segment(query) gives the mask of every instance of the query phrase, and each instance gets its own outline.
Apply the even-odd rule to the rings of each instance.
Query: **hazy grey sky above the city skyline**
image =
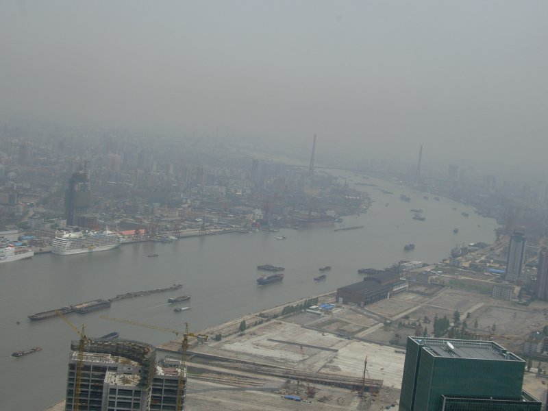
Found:
[[[0,114],[541,166],[547,16],[545,0],[0,0]]]

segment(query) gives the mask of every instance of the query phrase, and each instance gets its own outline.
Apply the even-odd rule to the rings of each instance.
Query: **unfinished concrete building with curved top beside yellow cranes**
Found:
[[[186,368],[133,340],[73,340],[66,411],[184,410]],[[77,388],[79,387],[79,388]]]

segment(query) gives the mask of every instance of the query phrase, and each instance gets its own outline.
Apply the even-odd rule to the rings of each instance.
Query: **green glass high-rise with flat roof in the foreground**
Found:
[[[408,337],[401,411],[540,411],[525,361],[493,341]]]

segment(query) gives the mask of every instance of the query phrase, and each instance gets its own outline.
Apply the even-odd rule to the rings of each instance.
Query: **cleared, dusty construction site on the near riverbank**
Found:
[[[458,311],[469,324],[466,338],[495,340],[523,355],[527,336],[543,328],[548,314],[542,302],[519,306],[438,284],[412,284],[408,292],[364,308],[337,303],[335,293],[319,297],[316,310],[287,307],[186,334],[201,338],[188,338],[183,356],[185,408],[397,410],[407,336],[432,333],[435,318]],[[156,347],[156,358],[180,359],[181,335]],[[544,369],[542,361],[534,365]],[[544,401],[546,375],[536,368],[525,373],[524,388]]]

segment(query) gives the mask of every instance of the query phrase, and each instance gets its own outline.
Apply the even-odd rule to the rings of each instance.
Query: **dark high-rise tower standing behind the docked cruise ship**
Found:
[[[90,209],[91,188],[86,167],[73,173],[64,195],[64,211],[68,225],[77,224],[77,216],[86,214]]]

